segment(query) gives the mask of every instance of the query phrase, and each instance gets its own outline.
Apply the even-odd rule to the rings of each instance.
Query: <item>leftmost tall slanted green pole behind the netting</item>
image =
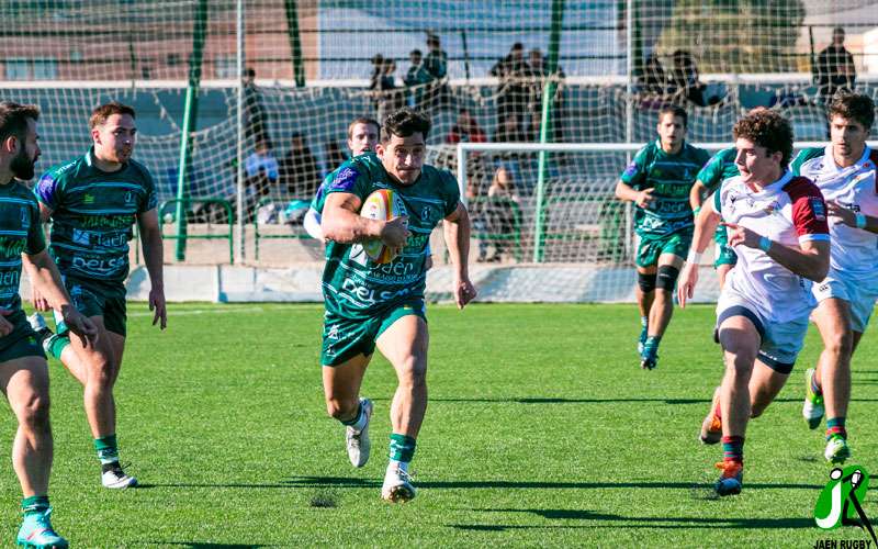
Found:
[[[189,85],[185,88],[185,108],[182,135],[180,136],[180,163],[177,169],[177,260],[185,260],[187,223],[189,191],[187,179],[192,163],[192,137],[199,115],[199,87],[201,86],[201,60],[204,41],[207,35],[207,0],[199,0],[195,22],[192,27],[192,57],[189,59]]]

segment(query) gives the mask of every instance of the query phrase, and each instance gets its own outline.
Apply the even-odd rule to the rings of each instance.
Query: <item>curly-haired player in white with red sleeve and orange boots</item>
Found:
[[[717,305],[725,373],[710,415],[722,429],[719,495],[741,492],[744,434],[786,383],[817,304],[810,281],[830,266],[826,208],[820,189],[789,171],[792,127],[766,109],[734,125],[741,172],[723,181],[696,221],[693,248],[680,276],[680,305],[693,296],[698,262],[720,217],[738,254]]]

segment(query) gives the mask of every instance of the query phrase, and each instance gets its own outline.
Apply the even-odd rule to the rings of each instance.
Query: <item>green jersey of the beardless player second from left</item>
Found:
[[[149,171],[131,160],[113,172],[93,164],[93,149],[50,168],[34,188],[52,209],[49,251],[65,276],[123,282],[137,214],[156,208]]]

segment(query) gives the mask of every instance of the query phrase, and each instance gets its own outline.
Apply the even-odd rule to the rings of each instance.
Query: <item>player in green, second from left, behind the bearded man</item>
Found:
[[[31,324],[43,335],[43,347],[85,388],[101,483],[110,489],[137,484],[119,463],[113,399],[125,349],[125,278],[134,223],[151,282],[153,324],[160,323],[165,329],[167,323],[156,189],[149,171],[131,158],[137,132],[134,116],[134,109],[116,102],[94,109],[89,121],[93,146],[83,156],[49,169],[34,189],[43,220],[53,221],[49,249],[67,291],[77,309],[98,326],[100,339],[93,347],[83,346],[68,337],[67,326],[57,316],[57,335],[52,335],[38,314]],[[38,311],[46,309],[37,292],[34,305]]]

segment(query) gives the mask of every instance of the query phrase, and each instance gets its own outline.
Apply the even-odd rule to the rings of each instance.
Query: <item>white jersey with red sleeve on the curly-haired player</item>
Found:
[[[729,178],[716,193],[713,206],[727,223],[744,226],[784,246],[830,240],[820,189],[790,171],[761,191],[747,187],[741,176]],[[745,298],[768,322],[800,320],[817,305],[809,280],[758,248],[739,244],[734,250],[738,265],[729,273],[723,293]]]

